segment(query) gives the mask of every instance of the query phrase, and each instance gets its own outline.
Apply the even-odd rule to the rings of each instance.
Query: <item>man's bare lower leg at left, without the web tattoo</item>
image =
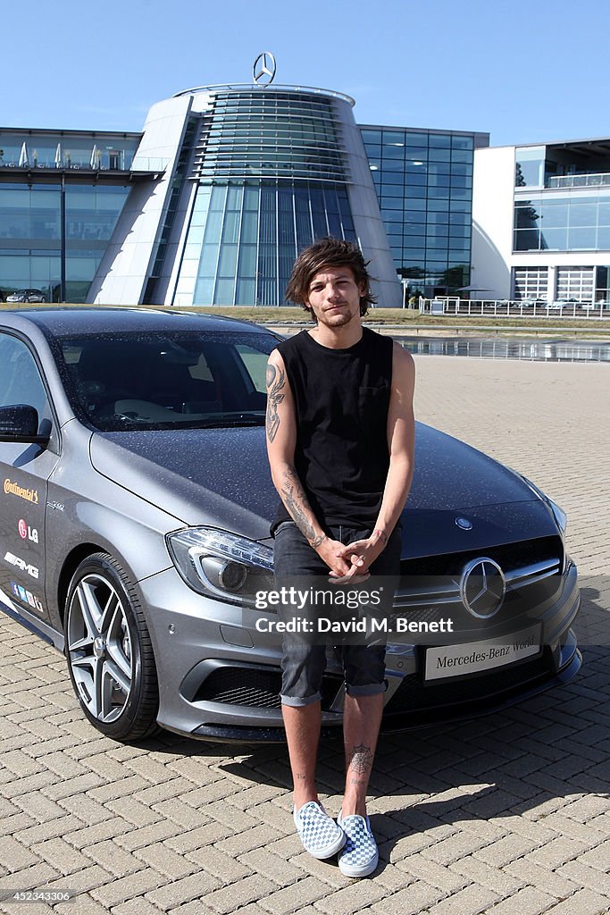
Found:
[[[316,759],[320,739],[321,704],[283,705],[284,727],[288,741],[290,768],[294,782],[294,809],[317,801]]]

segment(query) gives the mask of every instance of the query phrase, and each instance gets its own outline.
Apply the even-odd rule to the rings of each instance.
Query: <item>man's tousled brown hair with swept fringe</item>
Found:
[[[305,311],[312,314],[307,300],[309,284],[314,276],[325,267],[349,267],[357,285],[364,287],[364,295],[360,296],[360,316],[364,316],[369,305],[374,305],[377,301],[377,297],[370,291],[368,265],[369,261],[365,261],[359,247],[353,242],[344,242],[338,238],[320,239],[305,248],[294,261],[293,272],[286,286],[286,300],[303,306]]]

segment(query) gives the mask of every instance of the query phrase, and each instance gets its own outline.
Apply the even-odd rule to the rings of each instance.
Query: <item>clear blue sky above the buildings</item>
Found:
[[[138,131],[174,92],[251,81],[267,49],[276,82],[347,92],[359,124],[610,135],[604,0],[33,0],[2,18],[7,127]]]

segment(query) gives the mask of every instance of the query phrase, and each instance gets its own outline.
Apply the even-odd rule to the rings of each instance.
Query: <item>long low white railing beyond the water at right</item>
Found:
[[[484,318],[610,318],[607,302],[541,302],[524,299],[482,299],[471,301],[453,296],[437,296],[420,300],[420,313],[429,315],[459,315]]]

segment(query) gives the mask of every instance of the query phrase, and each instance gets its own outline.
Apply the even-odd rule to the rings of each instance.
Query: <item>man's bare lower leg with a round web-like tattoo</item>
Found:
[[[380,733],[383,694],[346,695],[343,741],[346,753],[346,789],[342,816],[367,815],[367,789]]]

